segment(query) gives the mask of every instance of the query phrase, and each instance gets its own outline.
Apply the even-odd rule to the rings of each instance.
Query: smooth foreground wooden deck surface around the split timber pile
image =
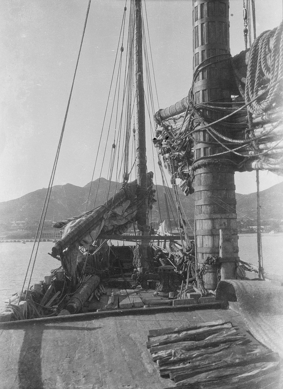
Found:
[[[149,308],[142,315],[138,311],[133,309],[128,315],[116,312],[115,317],[87,314],[62,321],[39,319],[2,326],[0,387],[161,389],[171,381],[161,378],[152,362],[146,347],[149,329],[219,319],[245,329],[240,315],[231,310],[187,308],[187,312],[154,313]]]

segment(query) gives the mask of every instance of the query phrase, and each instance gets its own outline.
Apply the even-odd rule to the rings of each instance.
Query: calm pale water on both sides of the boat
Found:
[[[50,274],[51,269],[60,265],[57,259],[47,254],[51,252],[53,245],[52,242],[40,243],[31,284],[42,280],[45,275]],[[0,311],[5,307],[4,301],[21,290],[32,247],[32,242],[0,243]],[[262,252],[265,271],[283,277],[283,234],[263,234]],[[239,257],[243,261],[257,265],[255,234],[239,235]]]

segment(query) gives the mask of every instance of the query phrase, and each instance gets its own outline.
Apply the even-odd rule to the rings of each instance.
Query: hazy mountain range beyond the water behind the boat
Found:
[[[46,220],[59,221],[70,216],[81,214],[86,209],[86,200],[89,193],[91,183],[89,182],[84,187],[75,186],[72,184],[57,185],[52,188],[51,198],[47,211]],[[91,195],[89,197],[89,205],[87,209],[93,207],[94,198],[98,180],[92,184]],[[107,180],[100,180],[100,189],[97,193],[96,205],[103,203],[103,196],[107,187]],[[118,187],[121,187],[119,185]],[[157,185],[158,203],[154,204],[152,210],[152,220],[160,222],[159,208],[161,219],[167,219],[166,202],[164,198],[163,187]],[[111,182],[110,196],[113,195],[115,183]],[[172,198],[174,199],[174,191],[169,188]],[[185,210],[186,216],[193,225],[194,220],[194,195],[184,196],[179,190],[180,200]],[[46,195],[46,188],[38,189],[37,191],[28,193],[15,200],[0,203],[0,222],[3,224],[12,221],[37,221],[40,217],[42,205]],[[260,192],[261,203],[261,218],[264,219],[283,219],[283,182],[276,184],[273,187]],[[157,195],[155,195],[157,200]],[[257,195],[250,193],[249,195],[236,194],[238,218],[245,217],[256,219],[257,215]],[[159,207],[158,207],[159,204]],[[170,210],[169,217],[172,218]]]

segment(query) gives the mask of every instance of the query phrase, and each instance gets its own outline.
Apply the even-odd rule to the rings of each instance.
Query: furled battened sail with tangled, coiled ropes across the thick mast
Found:
[[[171,176],[181,179],[179,186],[186,195],[193,192],[194,170],[211,163],[229,163],[239,171],[268,169],[283,175],[282,39],[282,23],[255,39],[249,53],[246,78],[239,79],[227,54],[217,59],[206,58],[197,67],[194,80],[214,61],[231,61],[231,71],[239,88],[239,95],[232,102],[211,101],[194,105],[193,80],[185,113],[164,119],[159,115],[161,110],[155,114],[154,146]],[[219,112],[222,117],[210,123],[203,110]],[[224,112],[227,112],[225,116]],[[248,112],[251,114],[251,129]],[[210,142],[194,139],[194,132],[200,128],[210,135]],[[217,146],[220,151],[194,159],[194,147],[199,143]]]

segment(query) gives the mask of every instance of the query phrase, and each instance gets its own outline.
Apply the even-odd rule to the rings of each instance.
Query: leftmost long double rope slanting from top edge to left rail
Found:
[[[86,18],[85,18],[84,28],[83,28],[83,32],[82,32],[82,38],[81,38],[81,41],[80,41],[80,48],[79,48],[79,53],[78,53],[78,57],[77,57],[77,63],[76,63],[76,66],[75,66],[75,72],[74,72],[74,75],[73,75],[72,86],[71,86],[70,95],[69,95],[69,98],[68,98],[67,108],[66,108],[65,117],[64,117],[64,121],[63,121],[63,126],[62,126],[62,130],[61,130],[61,134],[60,134],[60,138],[59,138],[59,143],[58,143],[58,147],[57,147],[57,151],[56,151],[56,156],[55,156],[54,164],[53,164],[53,167],[52,167],[51,177],[50,177],[50,180],[49,180],[49,186],[47,188],[47,193],[46,193],[46,196],[45,196],[44,205],[43,205],[42,213],[41,213],[41,216],[40,216],[40,221],[38,223],[38,228],[37,228],[37,233],[36,233],[36,237],[35,237],[35,242],[33,244],[30,260],[29,260],[29,263],[28,263],[28,268],[27,268],[27,271],[26,271],[23,287],[22,287],[22,290],[21,290],[21,294],[22,294],[23,293],[23,289],[24,289],[24,284],[26,282],[26,278],[27,278],[27,275],[28,275],[28,270],[29,270],[29,267],[30,267],[30,264],[31,264],[31,258],[32,258],[32,255],[33,255],[33,251],[35,249],[35,243],[36,243],[36,240],[38,238],[38,245],[37,245],[37,249],[35,251],[35,257],[34,257],[34,260],[33,260],[33,266],[31,268],[30,280],[29,280],[29,283],[28,283],[28,288],[27,288],[27,291],[26,291],[25,300],[26,300],[26,296],[27,296],[27,293],[28,293],[28,289],[30,287],[31,277],[32,277],[32,273],[33,273],[33,268],[34,268],[34,265],[35,265],[35,260],[37,258],[38,247],[39,247],[39,244],[40,244],[40,238],[41,238],[41,235],[42,235],[42,230],[43,230],[43,225],[44,225],[44,221],[45,221],[45,217],[46,217],[47,207],[48,207],[49,199],[50,199],[50,195],[51,195],[51,189],[52,189],[52,185],[53,185],[53,181],[54,181],[54,175],[55,175],[55,172],[56,172],[57,162],[58,162],[58,158],[59,158],[59,152],[60,152],[60,149],[61,149],[61,143],[62,143],[63,134],[64,134],[64,130],[65,130],[65,125],[66,125],[66,120],[67,120],[68,111],[69,111],[69,107],[70,107],[73,86],[74,86],[74,83],[75,83],[75,76],[76,76],[77,68],[78,68],[78,64],[79,64],[80,52],[81,52],[81,49],[82,49],[82,43],[83,43],[83,40],[84,40],[85,31],[86,31],[86,24],[87,24],[87,18],[88,18],[88,14],[89,14],[90,5],[91,5],[91,0],[89,0],[88,6],[87,6]],[[39,231],[41,222],[42,222],[42,225],[41,225],[41,229],[40,229],[39,236],[38,236],[38,231]],[[19,304],[19,302],[18,302],[18,304]]]

